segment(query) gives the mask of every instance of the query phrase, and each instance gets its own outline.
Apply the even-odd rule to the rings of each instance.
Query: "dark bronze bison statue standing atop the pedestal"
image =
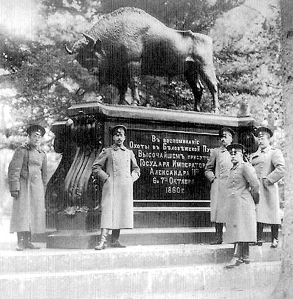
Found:
[[[184,74],[194,95],[194,110],[199,111],[206,83],[219,110],[212,40],[191,30],[174,30],[145,11],[124,7],[99,17],[84,37],[75,42],[69,54],[102,84],[119,90],[119,103],[124,103],[127,88],[133,103],[139,103],[138,78],[141,75],[166,76]]]

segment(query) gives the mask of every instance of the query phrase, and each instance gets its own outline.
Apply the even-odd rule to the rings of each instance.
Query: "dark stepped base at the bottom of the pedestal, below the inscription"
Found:
[[[100,240],[100,211],[57,213],[47,248],[93,248]],[[214,235],[208,208],[134,207],[134,229],[121,230],[126,245],[209,243]],[[197,226],[197,228],[195,228]]]

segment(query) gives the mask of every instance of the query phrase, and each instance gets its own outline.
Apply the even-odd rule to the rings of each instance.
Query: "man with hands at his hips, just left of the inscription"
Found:
[[[93,175],[103,183],[101,241],[95,250],[105,249],[109,230],[110,247],[125,247],[118,239],[121,229],[133,228],[133,183],[140,177],[133,152],[126,148],[126,127],[112,129],[114,144],[102,150],[93,163]]]

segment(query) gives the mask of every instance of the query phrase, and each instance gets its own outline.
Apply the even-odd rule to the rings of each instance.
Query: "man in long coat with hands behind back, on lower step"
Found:
[[[226,184],[228,208],[224,241],[238,244],[226,266],[233,268],[242,262],[250,262],[249,242],[256,240],[255,203],[259,200],[259,182],[251,164],[243,161],[243,145],[235,143],[227,149],[233,166]]]

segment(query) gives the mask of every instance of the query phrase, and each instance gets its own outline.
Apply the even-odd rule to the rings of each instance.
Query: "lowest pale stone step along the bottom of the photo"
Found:
[[[186,267],[136,268],[59,273],[0,275],[0,298],[136,298],[163,295],[268,287],[276,283],[280,261],[254,262],[225,269],[224,264]],[[136,294],[138,296],[136,296]]]

